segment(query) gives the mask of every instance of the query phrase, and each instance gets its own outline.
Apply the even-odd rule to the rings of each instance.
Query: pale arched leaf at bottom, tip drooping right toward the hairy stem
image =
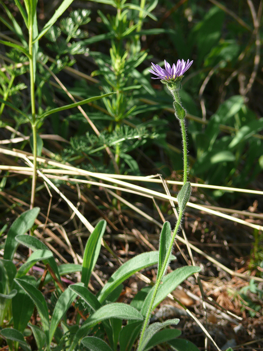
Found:
[[[122,303],[113,303],[102,306],[99,310],[94,312],[89,316],[88,319],[82,324],[80,329],[77,331],[72,344],[68,351],[74,350],[80,339],[87,333],[87,331],[95,326],[96,324],[102,322],[109,318],[119,318],[128,320],[143,320],[143,316],[134,307]]]

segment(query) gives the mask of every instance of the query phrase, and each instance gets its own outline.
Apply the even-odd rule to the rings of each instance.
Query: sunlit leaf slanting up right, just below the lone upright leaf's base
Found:
[[[75,285],[82,285],[82,283],[76,283]],[[55,305],[51,322],[50,322],[49,344],[52,342],[54,333],[56,331],[56,327],[58,326],[60,319],[67,312],[67,310],[69,309],[69,306],[72,304],[76,296],[77,296],[77,293],[69,288],[67,288],[60,295]]]

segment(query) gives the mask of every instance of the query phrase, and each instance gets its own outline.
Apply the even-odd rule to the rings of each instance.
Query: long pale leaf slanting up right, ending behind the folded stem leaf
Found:
[[[116,272],[113,273],[108,282],[103,286],[98,295],[98,300],[103,302],[108,294],[124,280],[132,276],[137,271],[156,264],[158,262],[158,256],[158,251],[144,252],[125,262],[116,270]]]

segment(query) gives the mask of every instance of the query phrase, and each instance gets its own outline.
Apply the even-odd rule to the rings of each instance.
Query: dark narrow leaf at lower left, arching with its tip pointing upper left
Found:
[[[49,317],[48,317],[47,303],[44,296],[32,284],[29,284],[24,280],[15,278],[14,281],[19,286],[21,286],[23,290],[25,290],[25,292],[28,294],[28,296],[33,300],[34,304],[36,305],[39,316],[41,318],[43,331],[45,332],[46,338],[49,341]]]

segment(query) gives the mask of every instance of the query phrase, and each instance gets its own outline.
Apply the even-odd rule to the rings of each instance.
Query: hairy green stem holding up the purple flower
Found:
[[[185,127],[185,124],[184,124],[184,117],[186,115],[186,111],[184,110],[184,108],[181,105],[180,97],[179,97],[179,94],[178,94],[178,91],[179,91],[179,89],[181,87],[180,81],[178,81],[177,88],[175,88],[175,86],[171,87],[169,85],[167,85],[167,87],[168,87],[168,89],[170,90],[170,92],[172,93],[172,95],[174,97],[174,101],[175,101],[175,104],[176,104],[176,105],[174,104],[175,117],[179,120],[180,126],[181,126],[181,133],[182,133],[182,140],[183,140],[183,184],[186,184],[186,182],[187,182],[187,168],[188,168],[186,127]],[[146,314],[146,317],[145,317],[145,320],[144,320],[144,324],[143,324],[143,327],[142,327],[141,336],[140,336],[139,345],[138,345],[138,350],[140,349],[140,345],[142,343],[142,340],[143,340],[143,337],[144,337],[144,333],[145,333],[146,328],[147,328],[147,326],[149,324],[149,320],[150,320],[150,317],[151,317],[151,312],[153,310],[154,300],[155,300],[157,291],[159,289],[159,286],[161,284],[162,278],[163,278],[163,276],[165,274],[166,265],[168,263],[171,250],[173,249],[174,240],[175,240],[177,231],[179,229],[179,226],[181,224],[183,213],[184,213],[184,208],[181,210],[181,208],[179,207],[178,219],[177,219],[176,226],[175,226],[175,229],[174,229],[174,232],[173,232],[173,236],[171,238],[171,242],[170,242],[169,249],[168,249],[169,254],[166,255],[166,258],[165,258],[165,260],[163,262],[163,266],[162,266],[159,278],[157,279],[157,281],[155,283],[153,296],[151,298],[151,302],[150,302],[150,305],[148,307],[147,314]]]

